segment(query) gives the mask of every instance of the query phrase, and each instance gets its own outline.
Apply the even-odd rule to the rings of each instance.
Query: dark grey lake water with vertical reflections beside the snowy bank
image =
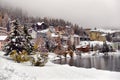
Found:
[[[90,56],[90,57],[74,57],[54,60],[56,64],[68,64],[70,66],[96,68],[102,70],[119,71],[120,72],[120,56],[109,55]]]

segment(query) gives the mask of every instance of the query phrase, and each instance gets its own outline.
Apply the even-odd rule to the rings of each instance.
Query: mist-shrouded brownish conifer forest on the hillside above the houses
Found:
[[[74,29],[74,32],[76,34],[79,34],[81,31],[81,27],[79,27],[77,24],[72,24],[69,21],[65,21],[64,19],[55,19],[55,18],[48,18],[48,17],[33,17],[28,16],[27,12],[23,11],[21,8],[12,8],[12,7],[3,7],[0,5],[0,13],[2,14],[2,17],[4,18],[4,15],[7,14],[11,20],[19,19],[21,24],[26,23],[36,23],[36,22],[45,22],[48,26],[71,26]]]

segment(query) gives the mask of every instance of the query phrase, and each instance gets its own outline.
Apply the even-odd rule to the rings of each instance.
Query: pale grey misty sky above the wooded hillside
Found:
[[[61,18],[82,27],[120,27],[120,0],[0,0],[0,3],[20,7],[32,16]]]

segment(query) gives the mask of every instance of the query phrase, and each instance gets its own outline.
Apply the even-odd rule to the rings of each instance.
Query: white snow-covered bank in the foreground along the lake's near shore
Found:
[[[50,56],[51,57],[51,56]],[[50,61],[45,67],[15,63],[0,52],[0,80],[119,80],[120,72],[76,68]]]

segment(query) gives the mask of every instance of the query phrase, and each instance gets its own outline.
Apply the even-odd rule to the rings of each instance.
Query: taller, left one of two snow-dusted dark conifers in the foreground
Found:
[[[19,23],[16,20],[13,23],[13,30],[10,32],[8,36],[8,43],[5,45],[5,55],[9,55],[12,50],[16,50],[17,53],[21,51],[24,47],[21,45],[22,37],[21,37],[22,31],[19,29]]]

